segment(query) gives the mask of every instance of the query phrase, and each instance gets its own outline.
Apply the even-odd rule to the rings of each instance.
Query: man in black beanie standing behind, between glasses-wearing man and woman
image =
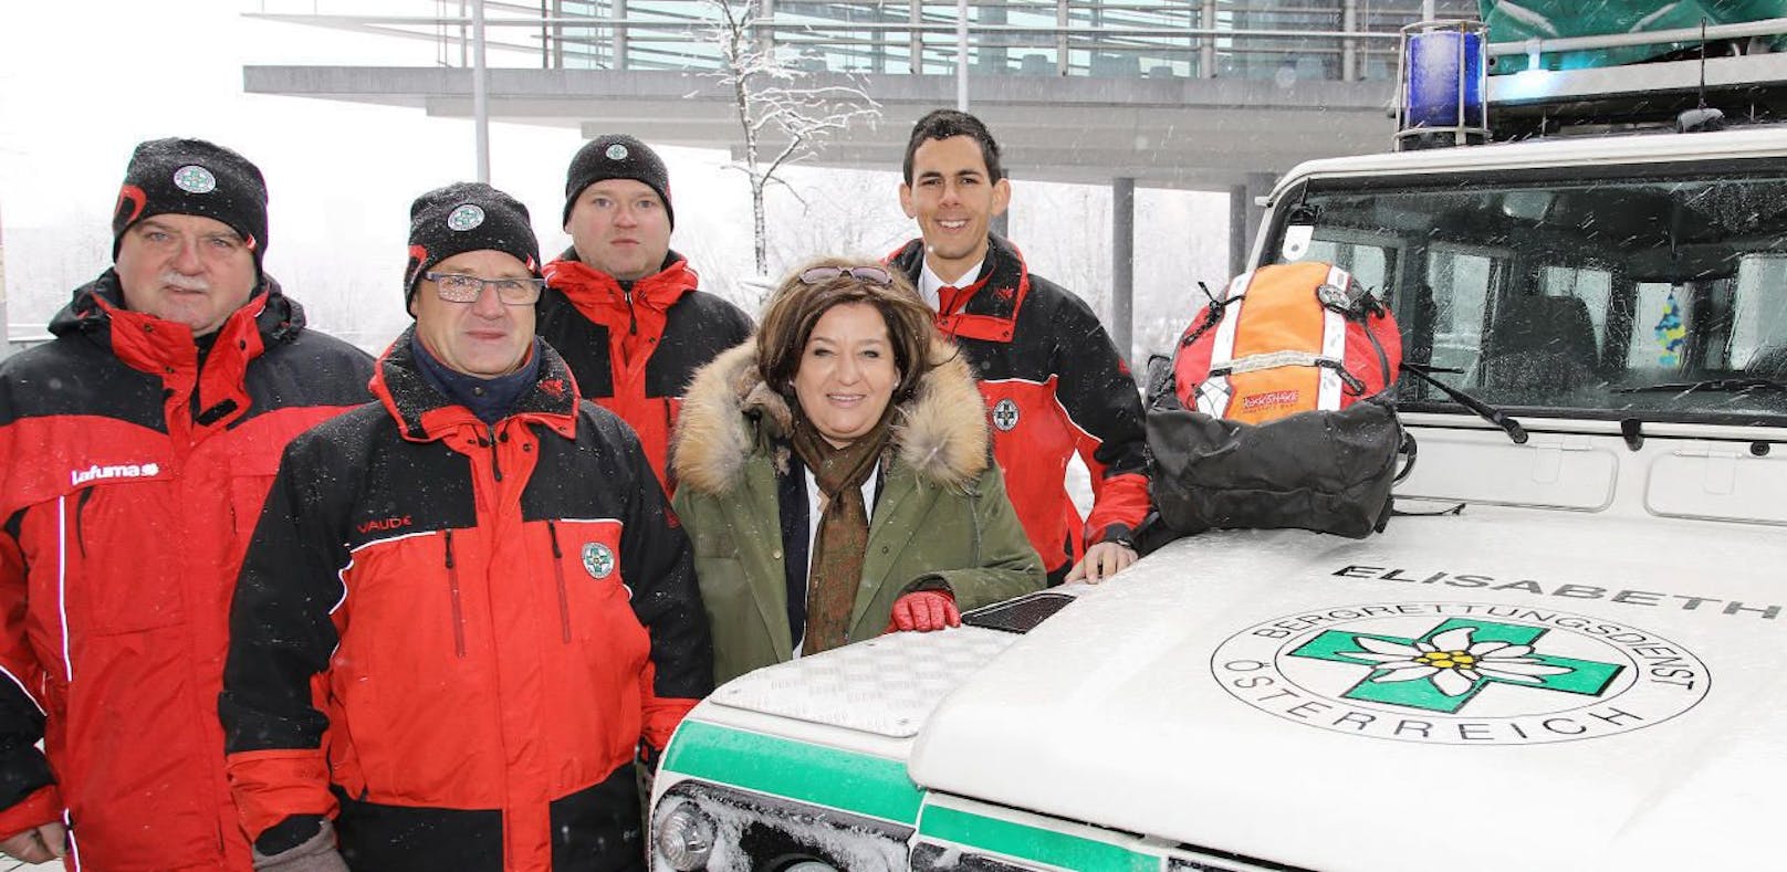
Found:
[[[645,143],[608,134],[565,173],[572,247],[547,264],[540,336],[565,354],[586,398],[640,434],[668,488],[665,457],[697,368],[751,336],[751,318],[699,289],[670,250],[670,172]]]

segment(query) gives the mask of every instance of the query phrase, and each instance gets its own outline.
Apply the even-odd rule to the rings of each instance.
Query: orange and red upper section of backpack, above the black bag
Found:
[[[1263,423],[1338,411],[1396,382],[1403,336],[1351,273],[1321,261],[1235,277],[1179,338],[1179,402],[1213,418]]]

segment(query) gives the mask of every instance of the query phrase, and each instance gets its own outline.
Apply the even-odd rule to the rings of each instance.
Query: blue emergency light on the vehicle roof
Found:
[[[1489,139],[1485,46],[1481,21],[1419,21],[1403,29],[1397,150]]]

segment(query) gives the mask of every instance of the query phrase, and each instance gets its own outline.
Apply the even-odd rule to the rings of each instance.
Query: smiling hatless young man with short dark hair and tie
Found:
[[[1017,247],[992,232],[1011,182],[986,125],[952,109],[920,118],[899,200],[920,238],[888,263],[974,365],[994,456],[1049,581],[1097,583],[1122,570],[1137,558],[1131,538],[1149,506],[1142,400],[1092,309],[1031,273]],[[1074,452],[1092,472],[1083,527],[1065,488]]]

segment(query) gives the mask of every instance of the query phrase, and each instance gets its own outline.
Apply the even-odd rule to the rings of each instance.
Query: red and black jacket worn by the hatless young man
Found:
[[[924,239],[888,256],[913,286]],[[1060,583],[1085,545],[1129,540],[1147,515],[1142,398],[1097,314],[1061,286],[1031,275],[1017,247],[988,236],[974,284],[944,302],[936,327],[956,340],[979,377],[994,457],[1049,581]],[[1081,525],[1067,495],[1067,461],[1092,474]]]

